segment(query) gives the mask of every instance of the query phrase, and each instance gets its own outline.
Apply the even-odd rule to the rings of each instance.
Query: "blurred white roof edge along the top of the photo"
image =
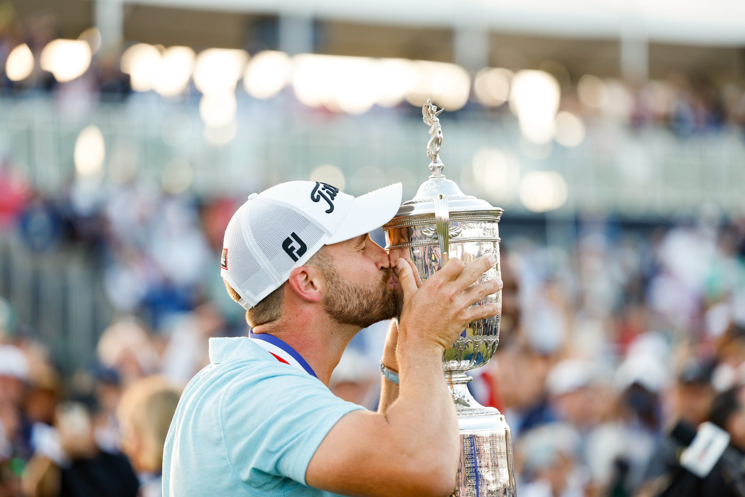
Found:
[[[737,0],[124,0],[130,4],[289,14],[434,28],[485,28],[566,37],[645,37],[706,45],[745,43]]]

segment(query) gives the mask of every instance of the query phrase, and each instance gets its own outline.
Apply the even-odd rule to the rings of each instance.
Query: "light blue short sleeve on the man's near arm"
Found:
[[[305,470],[323,438],[357,409],[364,408],[292,367],[264,364],[259,372],[242,373],[224,391],[220,414],[235,474],[247,484],[274,475],[305,485]]]

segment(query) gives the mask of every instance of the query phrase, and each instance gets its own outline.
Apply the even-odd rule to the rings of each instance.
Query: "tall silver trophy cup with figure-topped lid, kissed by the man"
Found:
[[[457,257],[468,264],[492,254],[497,263],[481,276],[478,281],[481,283],[500,275],[498,223],[502,209],[463,194],[443,175],[444,165],[440,160],[443,130],[437,117],[441,112],[429,100],[422,107],[424,122],[430,126],[427,155],[431,159],[431,176],[383,227],[386,250],[393,260],[403,257],[413,262],[422,280],[442,268],[448,257]],[[476,305],[492,302],[501,302],[501,292]],[[466,386],[471,381],[466,371],[486,364],[498,342],[499,316],[496,316],[470,323],[443,354],[462,443],[453,496],[516,495],[510,427],[497,409],[476,402]]]

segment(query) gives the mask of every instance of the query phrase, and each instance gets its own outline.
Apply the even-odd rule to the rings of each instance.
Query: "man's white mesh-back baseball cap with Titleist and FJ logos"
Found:
[[[256,306],[323,245],[381,227],[401,205],[401,183],[352,197],[327,183],[290,181],[251,194],[225,230],[220,273],[238,303]]]

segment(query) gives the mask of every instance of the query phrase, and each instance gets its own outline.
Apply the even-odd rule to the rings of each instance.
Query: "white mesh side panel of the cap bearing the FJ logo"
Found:
[[[246,238],[266,258],[279,287],[293,268],[310,259],[329,233],[288,203],[257,197],[249,206]]]

